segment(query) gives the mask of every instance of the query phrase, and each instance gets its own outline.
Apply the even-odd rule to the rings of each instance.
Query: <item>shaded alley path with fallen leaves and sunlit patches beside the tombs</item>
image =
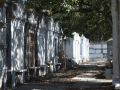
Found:
[[[89,61],[66,71],[34,78],[13,90],[114,90],[112,80],[105,79],[104,70],[105,61]]]

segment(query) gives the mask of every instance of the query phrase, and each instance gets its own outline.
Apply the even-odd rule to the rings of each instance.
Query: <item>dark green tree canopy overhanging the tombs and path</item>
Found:
[[[47,16],[60,21],[64,34],[84,34],[91,41],[107,40],[112,37],[110,0],[27,0],[26,8],[48,10]]]

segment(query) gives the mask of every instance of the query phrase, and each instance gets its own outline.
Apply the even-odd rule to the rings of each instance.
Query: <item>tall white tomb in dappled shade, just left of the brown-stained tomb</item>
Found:
[[[24,82],[24,28],[26,14],[22,1],[8,3],[7,15],[7,66],[8,85],[15,87]],[[12,79],[10,79],[12,77]]]

